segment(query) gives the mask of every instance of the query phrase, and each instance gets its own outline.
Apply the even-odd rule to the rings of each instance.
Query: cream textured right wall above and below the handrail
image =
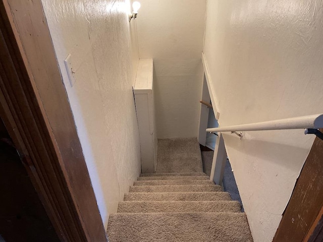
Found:
[[[204,52],[220,126],[323,112],[322,23],[322,1],[207,2]],[[272,241],[314,137],[224,139],[254,241]]]

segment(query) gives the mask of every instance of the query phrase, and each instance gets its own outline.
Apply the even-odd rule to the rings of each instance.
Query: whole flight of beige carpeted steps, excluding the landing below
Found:
[[[141,174],[107,225],[110,242],[252,241],[239,202],[205,173]]]

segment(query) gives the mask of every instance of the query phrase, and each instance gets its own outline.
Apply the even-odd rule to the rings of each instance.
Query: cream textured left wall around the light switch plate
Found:
[[[43,0],[84,157],[106,228],[140,172],[132,85],[138,64],[130,3]],[[71,87],[64,59],[72,54]]]

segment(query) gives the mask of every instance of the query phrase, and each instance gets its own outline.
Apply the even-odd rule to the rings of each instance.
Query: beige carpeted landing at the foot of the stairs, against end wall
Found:
[[[158,139],[156,173],[203,172],[196,138]]]

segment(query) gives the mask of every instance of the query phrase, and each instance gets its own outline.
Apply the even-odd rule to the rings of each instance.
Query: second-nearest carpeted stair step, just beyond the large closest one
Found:
[[[241,212],[238,201],[127,201],[118,213]]]

